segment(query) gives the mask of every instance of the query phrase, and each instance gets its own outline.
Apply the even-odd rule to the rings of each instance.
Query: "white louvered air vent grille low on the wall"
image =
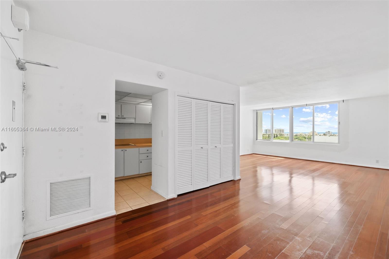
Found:
[[[47,219],[92,209],[92,175],[47,182]]]

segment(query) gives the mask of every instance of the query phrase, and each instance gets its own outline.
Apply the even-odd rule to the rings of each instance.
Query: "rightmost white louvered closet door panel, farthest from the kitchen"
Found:
[[[222,104],[222,182],[234,176],[234,106]]]

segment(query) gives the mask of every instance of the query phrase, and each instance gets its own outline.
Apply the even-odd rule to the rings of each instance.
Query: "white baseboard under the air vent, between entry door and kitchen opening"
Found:
[[[60,226],[55,226],[53,228],[48,228],[48,229],[40,230],[37,232],[33,232],[33,233],[30,233],[30,234],[23,236],[23,240],[24,240],[24,242],[30,242],[30,241],[35,240],[35,239],[43,238],[45,236],[54,235],[54,234],[60,233],[62,231],[67,231],[69,229],[84,226],[86,224],[91,224],[91,223],[96,222],[96,221],[102,221],[104,219],[109,219],[110,217],[114,217],[114,216],[116,216],[116,211],[113,210],[113,211],[110,211],[107,213],[103,213],[103,214],[95,215],[93,217],[82,219],[80,221],[70,222],[67,224],[60,225]]]

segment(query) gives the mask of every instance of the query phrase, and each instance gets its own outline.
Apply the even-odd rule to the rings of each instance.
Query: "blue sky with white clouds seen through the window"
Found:
[[[298,132],[312,131],[312,106],[293,108],[293,130]],[[263,111],[262,127],[270,129],[272,110]],[[289,132],[289,108],[273,110],[275,129],[284,129]],[[315,106],[315,131],[316,132],[338,132],[338,103]]]

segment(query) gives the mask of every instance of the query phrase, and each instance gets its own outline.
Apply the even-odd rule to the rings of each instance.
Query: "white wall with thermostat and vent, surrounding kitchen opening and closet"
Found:
[[[164,93],[168,99],[167,125],[163,126],[167,135],[160,147],[165,159],[155,165],[158,161],[153,158],[153,173],[158,166],[161,177],[168,179],[165,189],[160,190],[163,194],[175,196],[171,183],[175,175],[176,93],[237,104],[235,158],[239,176],[239,87],[33,30],[25,33],[24,48],[25,58],[60,67],[27,65],[26,126],[79,127],[78,132],[29,132],[26,136],[25,239],[115,214],[115,79],[168,89]],[[158,71],[165,72],[165,79],[158,79]],[[98,123],[98,112],[108,112],[109,122]],[[93,210],[46,221],[46,181],[85,174],[94,178]]]

